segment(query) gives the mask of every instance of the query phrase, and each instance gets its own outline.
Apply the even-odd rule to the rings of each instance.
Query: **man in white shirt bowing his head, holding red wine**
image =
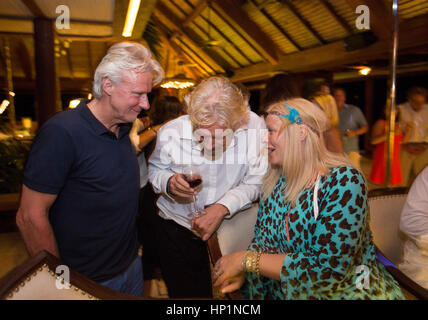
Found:
[[[258,199],[267,159],[257,134],[265,125],[223,77],[202,81],[185,100],[188,115],[158,132],[149,180],[160,194],[156,235],[169,297],[207,298],[212,285],[205,241],[225,217]],[[190,165],[199,179],[189,180]],[[191,187],[194,181],[200,185]],[[198,208],[201,215],[195,215]]]

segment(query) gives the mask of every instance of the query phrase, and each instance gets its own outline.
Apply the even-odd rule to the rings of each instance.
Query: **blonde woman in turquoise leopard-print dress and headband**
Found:
[[[296,98],[267,108],[269,169],[248,251],[213,270],[223,293],[249,299],[401,299],[376,260],[366,184],[349,160],[326,150],[324,112]]]

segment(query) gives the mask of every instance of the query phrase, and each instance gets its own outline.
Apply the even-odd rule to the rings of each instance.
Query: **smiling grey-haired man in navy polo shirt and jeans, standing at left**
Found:
[[[95,71],[95,99],[40,128],[16,218],[30,255],[47,250],[94,281],[142,295],[139,169],[128,134],[163,75],[146,47],[117,43]]]

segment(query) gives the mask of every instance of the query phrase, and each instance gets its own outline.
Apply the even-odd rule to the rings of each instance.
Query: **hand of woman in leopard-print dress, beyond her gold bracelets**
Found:
[[[221,292],[229,293],[238,290],[245,281],[245,271],[242,269],[242,259],[246,251],[238,251],[223,256],[214,266],[212,280],[214,287],[220,287]]]

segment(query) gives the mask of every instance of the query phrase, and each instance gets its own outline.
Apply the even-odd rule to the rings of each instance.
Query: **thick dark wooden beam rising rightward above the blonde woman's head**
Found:
[[[398,41],[399,53],[409,48],[428,45],[426,30],[428,29],[428,15],[418,16],[405,20],[400,24]],[[323,46],[306,49],[300,52],[282,55],[278,65],[259,63],[235,70],[231,78],[233,82],[247,82],[253,79],[269,78],[276,72],[306,72],[343,66],[352,63],[361,63],[364,60],[389,59],[391,41],[378,41],[369,47],[354,51],[346,51],[344,41],[336,41]]]

